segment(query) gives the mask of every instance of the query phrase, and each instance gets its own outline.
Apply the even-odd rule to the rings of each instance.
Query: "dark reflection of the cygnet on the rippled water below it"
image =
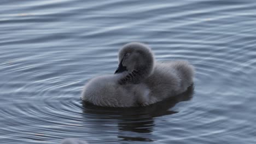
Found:
[[[180,101],[190,100],[193,96],[193,92],[194,86],[192,85],[188,87],[187,91],[176,97],[143,107],[100,107],[83,102],[83,116],[86,119],[92,119],[93,121],[86,122],[90,122],[92,127],[94,125],[95,127],[93,128],[100,128],[101,130],[97,131],[102,131],[102,133],[104,133],[105,130],[107,131],[106,125],[117,124],[118,138],[120,138],[120,140],[153,141],[150,139],[150,135],[148,135],[152,133],[155,125],[153,118],[177,113],[177,111],[170,110],[171,107]],[[100,125],[103,127],[99,127]],[[129,132],[136,133],[136,135],[132,134],[133,137],[131,137]]]

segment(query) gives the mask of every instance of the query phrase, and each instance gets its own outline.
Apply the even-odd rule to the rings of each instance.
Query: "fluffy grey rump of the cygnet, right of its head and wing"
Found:
[[[156,63],[154,73],[144,83],[152,101],[161,101],[185,92],[193,83],[193,75],[194,68],[186,61],[162,62]]]

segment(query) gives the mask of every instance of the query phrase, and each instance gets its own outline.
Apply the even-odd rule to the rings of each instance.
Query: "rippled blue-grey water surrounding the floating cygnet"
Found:
[[[188,60],[194,90],[147,107],[80,100],[121,46]],[[256,1],[14,1],[0,5],[0,143],[256,143]]]

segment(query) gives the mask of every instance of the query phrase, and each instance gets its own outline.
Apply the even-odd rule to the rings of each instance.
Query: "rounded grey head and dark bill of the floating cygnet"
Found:
[[[152,74],[154,68],[154,55],[150,48],[142,43],[128,43],[119,50],[119,67],[115,71],[127,71],[130,76],[144,79]]]

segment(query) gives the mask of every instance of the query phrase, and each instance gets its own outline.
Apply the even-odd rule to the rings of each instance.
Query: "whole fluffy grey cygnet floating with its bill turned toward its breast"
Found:
[[[114,75],[91,79],[82,100],[98,106],[144,106],[183,93],[193,83],[194,68],[186,61],[155,62],[153,52],[142,43],[119,50]]]

